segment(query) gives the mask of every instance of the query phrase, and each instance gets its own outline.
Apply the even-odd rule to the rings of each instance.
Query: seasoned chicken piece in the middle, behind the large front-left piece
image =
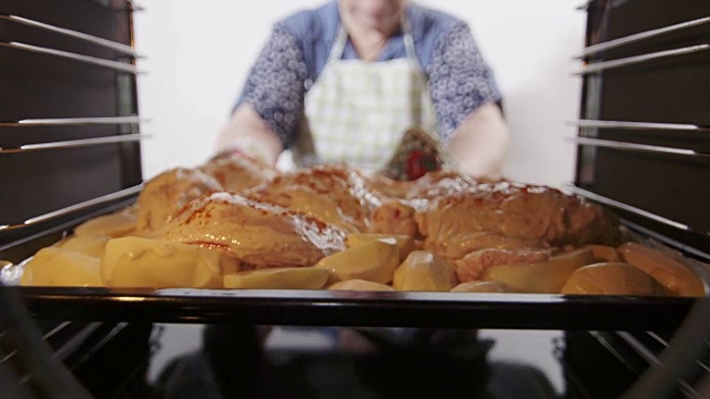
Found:
[[[246,195],[305,213],[347,232],[365,232],[369,214],[386,198],[356,170],[323,165],[284,173]]]

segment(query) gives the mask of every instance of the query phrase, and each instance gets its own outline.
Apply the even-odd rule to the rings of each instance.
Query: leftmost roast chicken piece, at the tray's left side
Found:
[[[138,197],[138,234],[159,229],[187,202],[203,194],[222,191],[213,177],[193,168],[176,167],[145,183]]]

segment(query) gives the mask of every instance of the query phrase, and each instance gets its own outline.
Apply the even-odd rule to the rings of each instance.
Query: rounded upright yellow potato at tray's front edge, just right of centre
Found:
[[[448,291],[457,284],[456,270],[443,257],[414,250],[395,270],[393,286],[398,290]]]

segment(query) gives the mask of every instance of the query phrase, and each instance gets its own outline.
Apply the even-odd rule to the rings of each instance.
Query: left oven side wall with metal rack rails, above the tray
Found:
[[[0,176],[13,187],[0,211],[0,246],[140,191],[140,142],[150,137],[141,125],[150,120],[138,115],[139,9],[109,0],[77,14],[52,1],[3,2],[0,168],[20,173]]]

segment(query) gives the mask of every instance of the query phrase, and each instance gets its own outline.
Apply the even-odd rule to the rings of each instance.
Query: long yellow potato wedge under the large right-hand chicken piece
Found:
[[[546,262],[491,266],[481,279],[506,283],[521,293],[558,294],[576,269],[594,263],[592,250],[580,248]]]

